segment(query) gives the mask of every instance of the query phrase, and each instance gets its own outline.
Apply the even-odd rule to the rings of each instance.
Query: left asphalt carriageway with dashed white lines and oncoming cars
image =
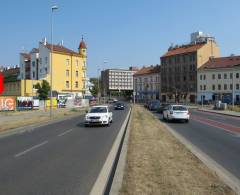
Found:
[[[128,109],[110,127],[79,116],[0,138],[0,195],[89,194]]]

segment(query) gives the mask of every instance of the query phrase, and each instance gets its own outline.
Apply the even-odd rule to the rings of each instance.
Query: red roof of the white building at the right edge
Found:
[[[200,69],[232,68],[240,66],[240,56],[210,58]]]

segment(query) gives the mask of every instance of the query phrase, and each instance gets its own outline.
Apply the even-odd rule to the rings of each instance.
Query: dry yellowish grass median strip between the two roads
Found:
[[[134,106],[121,195],[235,194],[152,113]]]

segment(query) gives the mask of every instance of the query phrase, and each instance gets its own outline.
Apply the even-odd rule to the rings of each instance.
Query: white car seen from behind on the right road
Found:
[[[163,110],[163,120],[184,120],[189,122],[190,115],[188,108],[183,105],[169,105]]]

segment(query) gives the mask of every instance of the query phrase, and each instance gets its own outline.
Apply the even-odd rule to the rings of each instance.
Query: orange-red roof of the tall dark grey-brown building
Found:
[[[199,44],[194,44],[194,45],[185,45],[182,47],[173,48],[173,49],[170,49],[167,53],[165,53],[162,57],[168,57],[168,56],[173,56],[173,55],[178,55],[178,54],[195,52],[204,45],[205,45],[205,43],[199,43]]]

